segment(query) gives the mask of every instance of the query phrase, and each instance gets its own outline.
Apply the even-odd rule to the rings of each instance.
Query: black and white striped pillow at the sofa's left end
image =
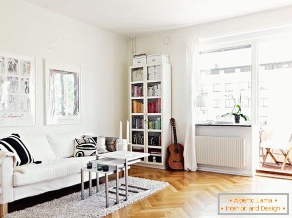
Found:
[[[1,139],[0,150],[14,153],[17,160],[16,166],[34,162],[32,155],[20,139],[19,134],[11,134],[11,136]]]

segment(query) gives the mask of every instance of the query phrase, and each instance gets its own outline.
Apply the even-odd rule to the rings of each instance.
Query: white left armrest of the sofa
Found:
[[[13,157],[3,158],[0,164],[0,203],[5,204],[13,201]]]

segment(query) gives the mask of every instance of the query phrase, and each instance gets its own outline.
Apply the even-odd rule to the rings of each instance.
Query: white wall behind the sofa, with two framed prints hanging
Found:
[[[125,38],[21,0],[1,0],[0,50],[36,57],[36,125],[1,127],[0,135],[81,131],[118,135],[118,121],[126,120],[128,112]],[[45,58],[81,65],[81,124],[45,126]]]

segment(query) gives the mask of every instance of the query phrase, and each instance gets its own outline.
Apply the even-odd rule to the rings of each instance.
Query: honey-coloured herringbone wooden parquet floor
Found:
[[[169,171],[134,166],[130,175],[166,181],[170,185],[107,217],[217,217],[218,192],[288,192],[292,189],[291,180],[203,171]]]

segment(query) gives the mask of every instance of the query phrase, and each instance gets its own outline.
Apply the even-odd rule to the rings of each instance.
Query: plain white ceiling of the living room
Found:
[[[292,5],[292,0],[25,1],[127,37]]]

